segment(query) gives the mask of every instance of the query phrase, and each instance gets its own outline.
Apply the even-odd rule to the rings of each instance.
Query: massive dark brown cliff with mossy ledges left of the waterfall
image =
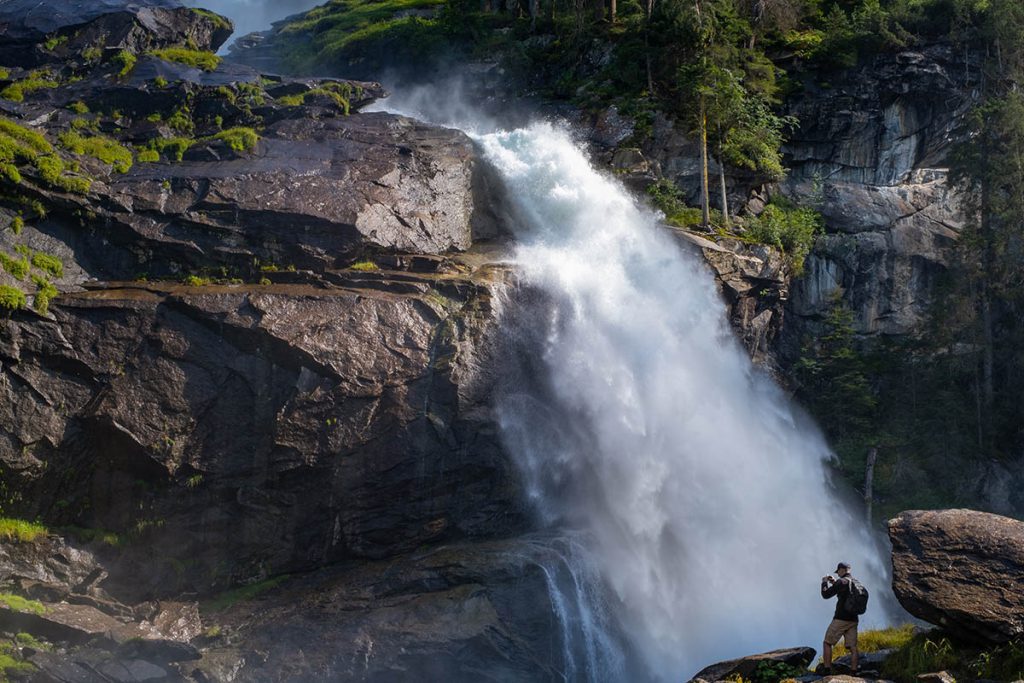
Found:
[[[222,17],[84,4],[0,8],[0,510],[69,538],[0,544],[0,592],[42,601],[0,631],[59,643],[23,648],[56,680],[554,679],[572,579],[520,538],[490,414],[502,195],[472,142],[357,113],[374,83],[152,52]]]

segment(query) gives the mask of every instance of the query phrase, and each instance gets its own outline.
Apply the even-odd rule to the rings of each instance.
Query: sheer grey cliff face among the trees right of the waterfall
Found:
[[[830,87],[808,84],[793,114],[783,189],[821,195],[828,233],[794,283],[792,330],[834,297],[863,335],[920,331],[965,219],[947,154],[973,105],[979,63],[947,45],[879,57]]]

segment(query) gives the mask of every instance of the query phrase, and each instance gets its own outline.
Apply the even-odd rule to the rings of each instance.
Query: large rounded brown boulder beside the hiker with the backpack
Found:
[[[889,522],[903,607],[964,639],[1024,635],[1024,522],[973,510],[910,511]]]

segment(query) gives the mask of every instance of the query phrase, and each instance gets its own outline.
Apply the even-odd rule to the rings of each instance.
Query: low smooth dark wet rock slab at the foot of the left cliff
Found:
[[[182,670],[365,681],[557,681],[595,671],[586,651],[564,645],[563,629],[585,628],[581,605],[552,603],[553,583],[573,581],[568,545],[543,536],[445,545],[295,578],[218,613],[222,635]],[[591,657],[622,656],[616,643],[599,645]]]

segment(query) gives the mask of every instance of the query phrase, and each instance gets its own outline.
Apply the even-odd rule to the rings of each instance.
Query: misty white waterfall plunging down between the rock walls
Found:
[[[507,185],[521,282],[543,293],[507,316],[525,361],[498,399],[504,438],[543,518],[593,539],[649,676],[818,646],[834,608],[819,579],[846,560],[880,596],[886,568],[712,274],[564,130],[470,134]]]

